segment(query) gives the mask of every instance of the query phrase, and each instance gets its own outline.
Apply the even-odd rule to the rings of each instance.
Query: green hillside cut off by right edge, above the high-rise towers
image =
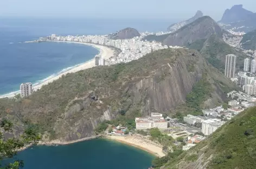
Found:
[[[256,50],[256,29],[242,36],[241,47],[246,50]]]

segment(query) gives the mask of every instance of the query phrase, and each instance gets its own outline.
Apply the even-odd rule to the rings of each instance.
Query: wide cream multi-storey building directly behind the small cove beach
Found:
[[[168,122],[164,120],[161,113],[151,113],[151,117],[135,118],[136,129],[159,128],[167,129]]]

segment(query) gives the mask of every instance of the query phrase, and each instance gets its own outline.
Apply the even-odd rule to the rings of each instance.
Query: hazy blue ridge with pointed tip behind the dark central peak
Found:
[[[182,21],[182,22],[178,22],[178,23],[174,23],[174,24],[171,24],[168,28],[167,28],[167,31],[170,31],[170,32],[175,32],[176,30],[184,27],[185,25],[191,23],[191,22],[194,22],[196,19],[200,18],[203,16],[203,12],[198,10],[196,12],[196,14],[189,18],[188,20],[185,20],[185,21]]]

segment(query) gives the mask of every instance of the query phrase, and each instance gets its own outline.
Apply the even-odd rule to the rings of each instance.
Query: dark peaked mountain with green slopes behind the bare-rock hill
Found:
[[[149,35],[144,37],[144,40],[162,42],[163,45],[167,46],[184,46],[196,49],[206,57],[209,63],[222,72],[225,69],[225,56],[235,54],[238,56],[237,68],[239,70],[244,66],[243,60],[246,55],[223,41],[224,34],[229,37],[234,36],[228,31],[222,30],[209,16],[203,16],[175,32],[161,36]]]

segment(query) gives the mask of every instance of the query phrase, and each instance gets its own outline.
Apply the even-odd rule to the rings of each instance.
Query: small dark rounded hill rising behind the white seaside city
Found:
[[[133,38],[136,36],[140,36],[140,34],[139,34],[138,30],[136,30],[134,28],[125,28],[125,29],[117,31],[114,34],[108,35],[108,37],[111,40],[125,40],[125,39]]]

